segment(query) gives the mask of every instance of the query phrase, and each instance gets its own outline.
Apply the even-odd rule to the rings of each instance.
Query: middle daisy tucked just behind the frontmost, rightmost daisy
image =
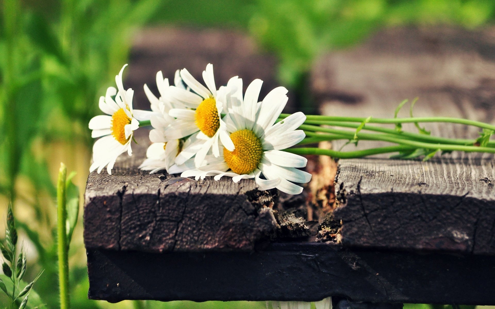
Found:
[[[169,127],[167,134],[174,138],[192,135],[195,142],[184,147],[175,162],[181,165],[195,156],[196,166],[200,166],[210,149],[215,157],[220,155],[219,139],[226,148],[234,150],[221,116],[226,108],[226,93],[229,91],[226,87],[217,91],[211,64],[203,71],[203,80],[207,87],[201,85],[186,69],[182,69],[180,74],[184,83],[194,92],[170,87],[172,103],[182,104],[184,108],[170,110],[170,116],[175,117],[176,121]]]

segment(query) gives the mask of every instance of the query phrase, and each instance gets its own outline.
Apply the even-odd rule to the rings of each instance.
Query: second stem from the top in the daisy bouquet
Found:
[[[360,124],[354,124],[354,123],[347,123],[347,122],[340,122],[340,121],[322,121],[322,120],[308,120],[308,121],[305,121],[304,124],[307,124],[307,125],[327,125],[327,126],[354,128],[354,129],[357,129],[360,126]],[[432,135],[405,132],[405,131],[397,132],[394,129],[368,126],[368,125],[365,125],[362,128],[362,130],[394,134],[394,135],[397,135],[400,137],[408,137],[408,139],[431,142],[431,143],[454,144],[454,145],[473,145],[476,142],[475,139],[446,138],[446,137],[432,136]],[[495,141],[488,142],[487,146],[495,147]]]

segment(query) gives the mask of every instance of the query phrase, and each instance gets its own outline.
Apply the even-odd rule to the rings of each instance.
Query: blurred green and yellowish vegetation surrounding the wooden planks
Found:
[[[324,52],[400,25],[477,28],[495,19],[493,0],[2,0],[0,1],[0,214],[9,200],[28,247],[28,279],[58,308],[54,181],[60,162],[84,188],[98,97],[147,26],[236,29],[278,59],[279,82],[304,100]],[[307,104],[307,102],[306,102]],[[84,190],[81,190],[81,194]],[[0,218],[3,215],[0,215]],[[2,220],[4,221],[4,220]],[[80,220],[79,222],[82,222]],[[87,300],[82,223],[70,251],[73,308],[264,308],[264,303]],[[173,280],[171,278],[171,280]],[[1,302],[1,298],[0,298]],[[1,306],[0,306],[1,307]],[[430,308],[408,305],[407,308]],[[437,306],[438,307],[438,306]]]

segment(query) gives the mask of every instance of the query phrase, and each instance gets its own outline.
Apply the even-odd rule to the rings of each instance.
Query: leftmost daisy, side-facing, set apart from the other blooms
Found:
[[[99,98],[99,109],[107,115],[93,117],[89,128],[93,130],[91,137],[101,137],[93,145],[93,164],[90,172],[98,169],[98,173],[106,166],[108,174],[112,174],[115,160],[122,153],[132,155],[131,140],[133,132],[139,128],[140,120],[149,120],[153,112],[134,110],[132,97],[134,90],[125,90],[122,84],[122,72],[115,76],[117,89],[109,87],[105,96]],[[115,98],[112,98],[115,96]]]

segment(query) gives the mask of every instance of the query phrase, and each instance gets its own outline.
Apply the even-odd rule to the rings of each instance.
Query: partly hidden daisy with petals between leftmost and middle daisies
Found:
[[[182,88],[186,90],[182,79],[179,74],[179,70],[175,72],[174,79],[175,87]],[[151,110],[155,112],[154,115],[150,117],[151,126],[153,130],[149,132],[149,139],[151,140],[151,145],[146,151],[147,159],[139,167],[145,171],[151,171],[150,174],[156,173],[161,170],[167,171],[169,173],[169,168],[174,165],[175,158],[181,152],[184,145],[189,146],[189,144],[194,139],[188,139],[186,143],[183,143],[181,139],[171,138],[167,134],[167,129],[175,120],[175,118],[169,115],[169,111],[173,106],[180,106],[184,108],[182,104],[172,104],[169,99],[169,82],[168,79],[163,78],[161,71],[156,73],[156,86],[160,97],[157,98],[151,90],[149,90],[148,85],[145,84],[145,93],[151,104]],[[187,170],[187,168],[176,167],[176,173],[181,173]]]

